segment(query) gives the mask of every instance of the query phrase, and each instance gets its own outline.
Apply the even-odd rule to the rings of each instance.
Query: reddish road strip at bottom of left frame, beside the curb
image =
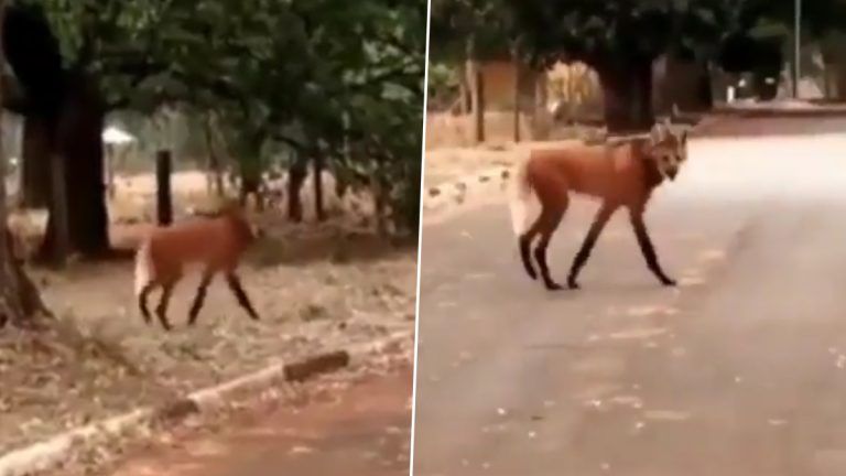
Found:
[[[138,455],[112,476],[405,476],[411,370]]]

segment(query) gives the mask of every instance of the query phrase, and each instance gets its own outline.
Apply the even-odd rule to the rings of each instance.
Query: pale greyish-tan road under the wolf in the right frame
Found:
[[[507,214],[424,229],[415,476],[846,474],[846,134],[694,140],[647,213],[675,290],[619,215],[546,292]]]

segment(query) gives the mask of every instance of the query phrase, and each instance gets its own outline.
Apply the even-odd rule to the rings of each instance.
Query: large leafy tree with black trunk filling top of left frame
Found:
[[[64,158],[72,247],[86,255],[108,248],[99,131],[110,111],[170,105],[231,118],[253,184],[267,142],[311,158],[355,131],[388,131],[356,123],[358,97],[398,88],[406,96],[384,104],[421,113],[422,0],[22,0],[10,11],[4,46],[23,95],[6,106],[26,117],[28,169],[52,151]],[[304,137],[286,136],[297,125]],[[31,175],[48,188],[48,174]]]

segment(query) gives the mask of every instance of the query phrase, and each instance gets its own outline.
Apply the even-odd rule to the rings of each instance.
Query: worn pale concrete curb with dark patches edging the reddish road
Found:
[[[413,332],[398,332],[372,344],[352,346],[349,350],[321,353],[289,364],[274,364],[221,385],[193,391],[184,398],[159,407],[137,409],[76,428],[0,456],[0,476],[33,476],[56,468],[83,443],[104,441],[153,423],[175,424],[191,414],[220,408],[229,398],[246,390],[268,388],[283,382],[302,382],[322,374],[337,371],[373,354],[401,348],[402,342],[412,336]]]

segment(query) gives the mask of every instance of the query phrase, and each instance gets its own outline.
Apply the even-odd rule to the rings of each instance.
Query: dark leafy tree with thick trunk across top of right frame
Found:
[[[434,0],[432,51],[469,57],[459,45],[503,58],[516,46],[538,68],[583,62],[598,74],[611,130],[654,121],[652,64],[662,55],[772,76],[783,64],[793,0]],[[846,25],[843,0],[803,2],[814,35]],[[484,46],[479,46],[479,44]]]

